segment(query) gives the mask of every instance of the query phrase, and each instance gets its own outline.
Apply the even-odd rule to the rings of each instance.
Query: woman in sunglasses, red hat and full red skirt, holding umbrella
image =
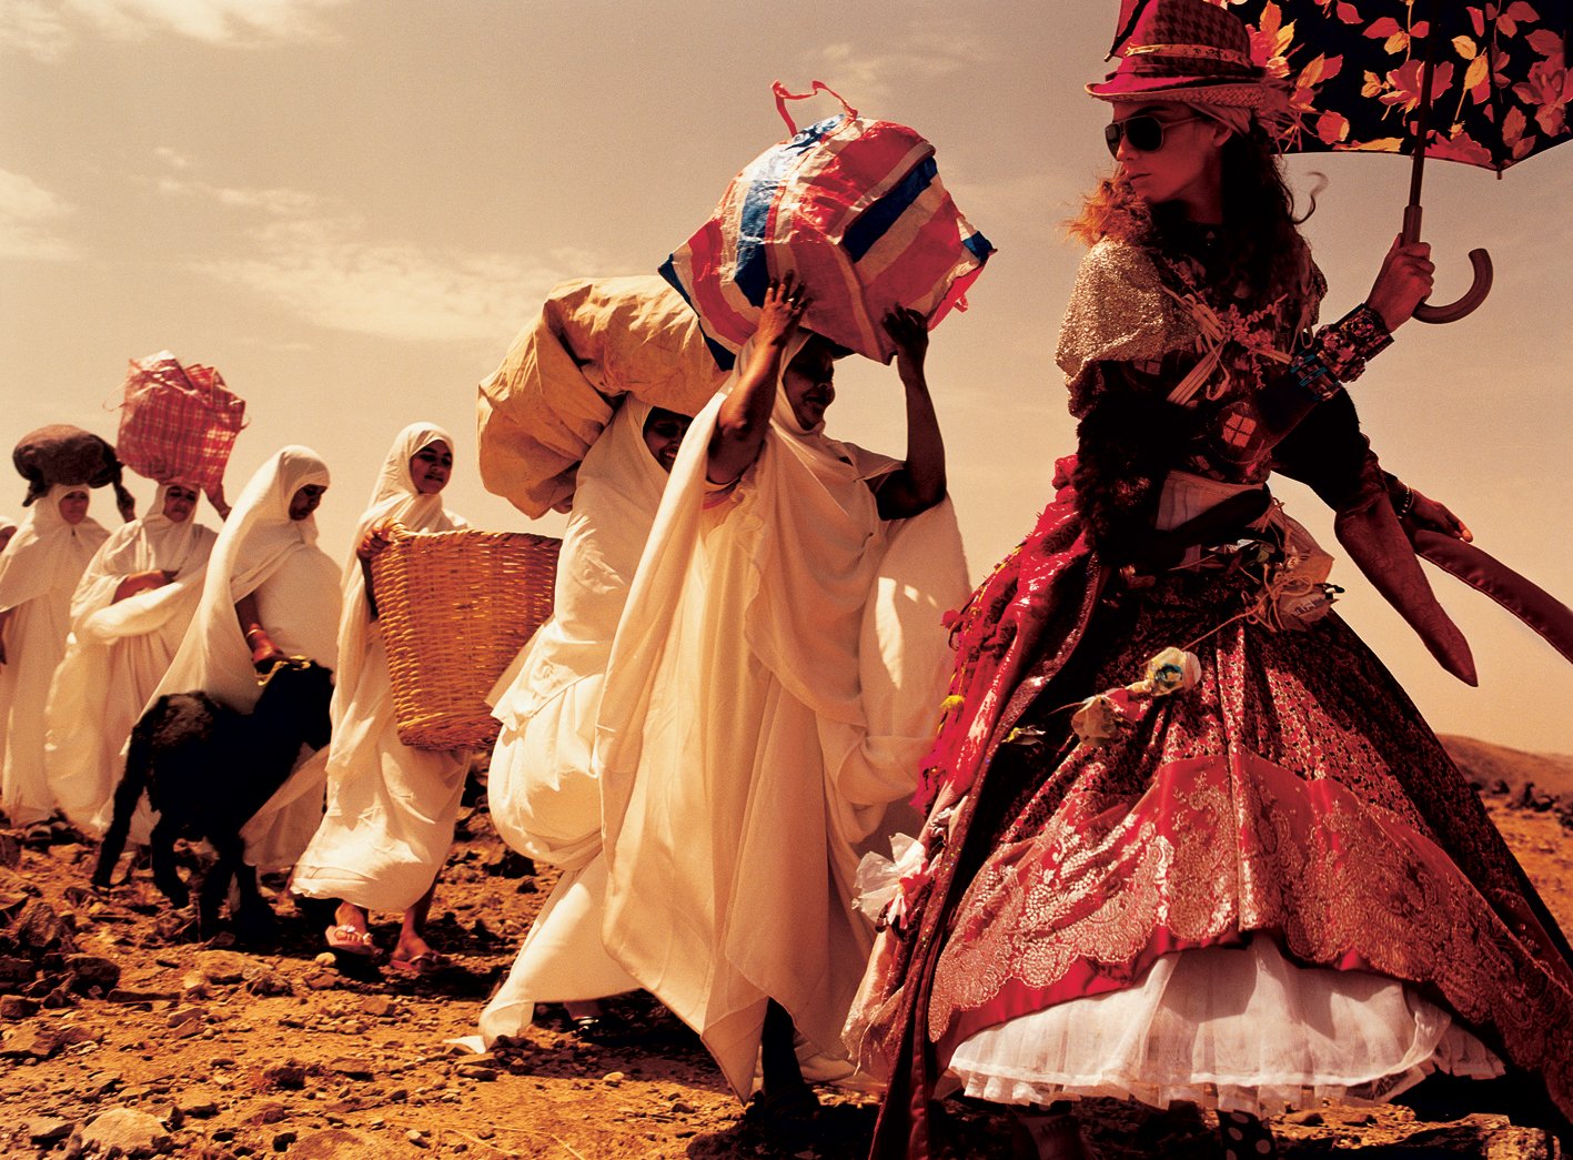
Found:
[[[1468,532],[1381,472],[1343,390],[1430,291],[1427,247],[1317,329],[1249,47],[1153,0],[1089,87],[1117,165],[1073,224],[1078,455],[955,630],[930,820],[848,1026],[890,1078],[876,1155],[926,1155],[955,1088],[1055,1157],[1084,1154],[1082,1095],[1202,1105],[1238,1157],[1274,1154],[1265,1118],[1433,1070],[1573,1111],[1567,940],[1268,494],[1310,483],[1472,682],[1400,518]]]

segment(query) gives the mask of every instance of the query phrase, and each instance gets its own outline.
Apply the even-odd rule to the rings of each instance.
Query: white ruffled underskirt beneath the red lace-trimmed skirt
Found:
[[[1387,1100],[1436,1069],[1502,1073],[1416,988],[1295,966],[1258,936],[1166,955],[1137,987],[986,1028],[955,1050],[949,1078],[994,1103],[1103,1095],[1277,1116],[1323,1099]]]

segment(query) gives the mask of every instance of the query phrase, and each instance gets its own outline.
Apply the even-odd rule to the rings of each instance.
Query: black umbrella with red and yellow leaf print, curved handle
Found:
[[[1145,3],[1122,0],[1115,50]],[[1425,157],[1501,175],[1573,137],[1570,0],[1213,3],[1246,24],[1255,63],[1287,83],[1287,151],[1414,156],[1406,239],[1419,236]],[[1425,151],[1416,156],[1422,139]],[[1422,307],[1416,316],[1452,321],[1479,305],[1490,286],[1490,258],[1485,250],[1469,257],[1475,288],[1455,307]]]

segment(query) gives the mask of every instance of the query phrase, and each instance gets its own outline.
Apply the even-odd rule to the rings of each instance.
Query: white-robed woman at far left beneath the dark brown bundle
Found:
[[[88,497],[85,483],[57,483],[0,552],[0,807],[13,826],[36,826],[55,809],[44,705],[71,633],[71,593],[109,537]]]

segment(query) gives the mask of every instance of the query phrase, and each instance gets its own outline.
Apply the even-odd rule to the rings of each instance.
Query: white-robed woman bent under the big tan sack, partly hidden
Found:
[[[601,946],[606,858],[590,751],[617,622],[691,422],[632,397],[612,416],[579,464],[552,619],[492,691],[502,722],[486,779],[492,825],[562,877],[481,1012],[488,1045],[522,1034],[543,1001],[563,1003],[593,1037],[604,1029],[595,999],[639,987]]]

